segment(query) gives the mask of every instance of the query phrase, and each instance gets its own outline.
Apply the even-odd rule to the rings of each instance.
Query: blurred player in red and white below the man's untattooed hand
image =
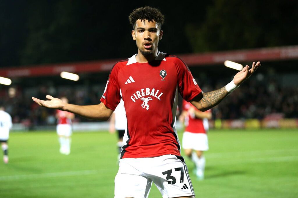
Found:
[[[61,100],[64,103],[68,103],[68,99],[63,97]],[[60,153],[64,155],[69,155],[70,145],[71,145],[71,135],[72,135],[72,119],[74,119],[75,114],[57,110],[57,134],[60,143]]]

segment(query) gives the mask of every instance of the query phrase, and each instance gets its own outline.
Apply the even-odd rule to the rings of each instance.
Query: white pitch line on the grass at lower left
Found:
[[[10,175],[0,176],[0,181],[7,180],[22,180],[22,179],[39,179],[47,177],[66,177],[66,176],[79,176],[79,175],[91,175],[99,172],[99,170],[80,170],[80,171],[67,171],[67,172],[50,172],[40,174],[28,174],[28,175]]]

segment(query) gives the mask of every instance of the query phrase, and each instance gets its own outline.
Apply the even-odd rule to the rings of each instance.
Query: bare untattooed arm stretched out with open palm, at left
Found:
[[[62,100],[60,100],[59,98],[54,98],[50,95],[46,95],[46,98],[49,100],[40,100],[34,97],[32,97],[32,100],[39,106],[44,106],[51,109],[60,109],[62,111],[69,111],[81,117],[92,120],[108,120],[113,113],[113,111],[111,109],[108,109],[103,103],[97,105],[80,106],[63,103]]]

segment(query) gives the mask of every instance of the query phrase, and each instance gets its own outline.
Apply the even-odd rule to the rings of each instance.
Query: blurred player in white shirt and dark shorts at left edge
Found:
[[[0,142],[3,151],[3,161],[8,163],[8,139],[9,130],[13,127],[11,116],[4,111],[4,107],[0,106]]]

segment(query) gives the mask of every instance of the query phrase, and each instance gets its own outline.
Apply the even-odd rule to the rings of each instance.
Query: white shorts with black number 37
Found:
[[[195,195],[181,156],[120,159],[115,177],[115,198],[147,198],[152,182],[163,198]]]

